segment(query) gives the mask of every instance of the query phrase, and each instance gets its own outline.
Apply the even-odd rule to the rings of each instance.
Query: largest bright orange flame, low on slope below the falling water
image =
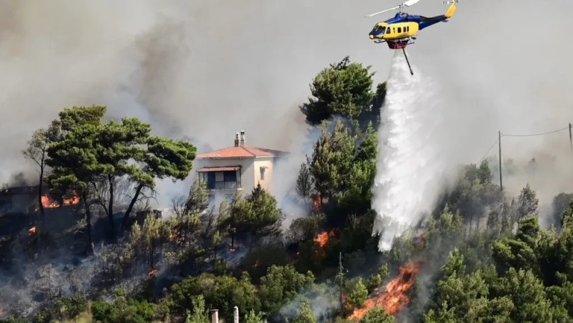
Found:
[[[386,285],[382,295],[367,299],[362,308],[356,308],[349,320],[361,320],[375,306],[383,306],[386,313],[394,315],[410,303],[406,292],[414,284],[414,276],[420,271],[420,263],[408,263],[400,267],[400,274]]]

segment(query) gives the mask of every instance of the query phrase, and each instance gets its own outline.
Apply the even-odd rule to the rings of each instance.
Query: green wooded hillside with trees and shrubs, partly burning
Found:
[[[158,179],[188,176],[196,147],[151,135],[139,119],[104,122],[103,106],[63,109],[23,149],[54,197],[79,197],[92,270],[69,282],[70,295],[44,295],[31,315],[3,308],[0,323],[209,323],[213,308],[232,322],[233,306],[246,323],[573,322],[573,195],[555,198],[559,229],[540,229],[535,192],[524,185],[507,196],[487,161],[460,165],[429,222],[378,251],[371,188],[385,83],[373,75],[344,58],[310,85],[300,110],[322,134],[293,175],[308,215],[286,232],[260,186],[215,213],[200,181],[174,198],[173,217],[134,222]],[[127,208],[118,222],[119,200]],[[107,233],[95,245],[99,214]],[[28,246],[39,256],[26,258],[38,267],[62,248],[42,228]]]

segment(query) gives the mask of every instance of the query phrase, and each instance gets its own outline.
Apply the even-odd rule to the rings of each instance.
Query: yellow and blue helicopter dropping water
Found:
[[[374,25],[374,28],[372,28],[372,31],[369,33],[369,37],[377,44],[385,42],[388,44],[390,49],[401,49],[404,52],[406,63],[408,63],[410,74],[412,75],[414,75],[414,72],[412,72],[410,61],[408,60],[408,56],[406,56],[406,46],[414,44],[412,40],[416,40],[415,35],[417,35],[418,31],[432,26],[433,24],[437,24],[438,22],[447,22],[449,18],[454,16],[454,13],[456,12],[456,3],[460,0],[443,1],[443,4],[451,3],[444,15],[424,17],[420,15],[410,15],[403,12],[404,7],[413,6],[418,1],[420,0],[408,0],[394,8],[382,10],[378,13],[372,13],[371,15],[366,16],[373,17],[390,10],[398,9],[398,13],[396,13],[394,17],[386,20],[385,22],[379,22]]]

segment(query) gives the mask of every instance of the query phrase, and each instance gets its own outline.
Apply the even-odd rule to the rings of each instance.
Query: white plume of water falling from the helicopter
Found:
[[[445,184],[446,155],[437,138],[442,124],[433,81],[413,66],[410,75],[404,53],[396,51],[388,78],[379,129],[379,160],[374,180],[373,235],[379,250],[388,251],[408,226],[431,212]]]

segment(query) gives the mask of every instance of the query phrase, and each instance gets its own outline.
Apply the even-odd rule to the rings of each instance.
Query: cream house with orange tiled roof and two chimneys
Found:
[[[233,147],[198,154],[199,179],[206,182],[211,206],[219,206],[223,199],[231,201],[236,192],[247,195],[260,183],[272,191],[272,174],[279,158],[286,151],[266,149],[245,144],[244,131],[235,134]]]

